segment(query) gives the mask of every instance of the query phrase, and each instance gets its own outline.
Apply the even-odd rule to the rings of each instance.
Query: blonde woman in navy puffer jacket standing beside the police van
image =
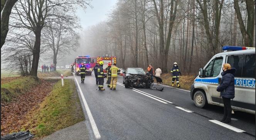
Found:
[[[221,85],[217,87],[217,91],[221,92],[221,97],[224,103],[224,117],[222,118],[221,122],[230,123],[232,113],[230,99],[235,98],[234,73],[236,72],[236,68],[231,68],[229,63],[225,63],[222,70]]]

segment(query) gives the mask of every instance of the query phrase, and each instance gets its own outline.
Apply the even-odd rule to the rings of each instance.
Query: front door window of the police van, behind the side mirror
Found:
[[[223,58],[215,58],[212,60],[209,65],[205,68],[205,77],[216,77],[221,71]]]

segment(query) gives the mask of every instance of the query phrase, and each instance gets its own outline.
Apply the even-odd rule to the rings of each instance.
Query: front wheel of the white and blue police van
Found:
[[[207,98],[205,97],[204,93],[200,90],[196,91],[194,94],[194,103],[195,106],[199,108],[206,107],[207,105]]]

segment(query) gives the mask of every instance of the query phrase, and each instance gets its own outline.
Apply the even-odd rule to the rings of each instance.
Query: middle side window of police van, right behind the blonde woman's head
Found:
[[[236,68],[235,77],[242,77],[243,58],[244,55],[231,55],[227,57],[227,63],[232,68]]]

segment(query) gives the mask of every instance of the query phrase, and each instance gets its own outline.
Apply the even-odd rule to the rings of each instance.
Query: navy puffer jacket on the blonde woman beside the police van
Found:
[[[217,87],[217,91],[221,92],[221,97],[235,98],[235,72],[236,68],[231,68],[230,70],[221,73],[221,85]]]

